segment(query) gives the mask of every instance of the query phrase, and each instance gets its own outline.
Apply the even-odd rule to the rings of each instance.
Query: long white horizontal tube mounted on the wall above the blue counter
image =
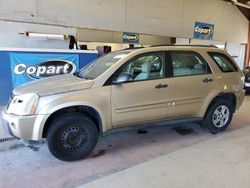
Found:
[[[46,39],[46,40],[65,40],[65,39],[68,39],[68,35],[63,35],[63,34],[26,32],[25,35],[29,38]]]

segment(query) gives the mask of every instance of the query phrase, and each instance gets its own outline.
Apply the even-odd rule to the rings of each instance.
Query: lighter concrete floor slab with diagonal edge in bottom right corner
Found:
[[[80,188],[249,188],[250,127],[157,157]]]

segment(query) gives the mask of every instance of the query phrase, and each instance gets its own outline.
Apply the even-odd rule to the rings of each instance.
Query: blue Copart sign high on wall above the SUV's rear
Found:
[[[195,22],[194,38],[213,40],[214,24]]]

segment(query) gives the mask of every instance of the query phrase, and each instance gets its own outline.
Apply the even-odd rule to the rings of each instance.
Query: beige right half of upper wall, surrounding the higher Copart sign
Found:
[[[192,38],[194,22],[215,24],[214,40],[246,42],[248,20],[222,0],[129,0],[127,29]],[[132,8],[133,7],[133,8]]]

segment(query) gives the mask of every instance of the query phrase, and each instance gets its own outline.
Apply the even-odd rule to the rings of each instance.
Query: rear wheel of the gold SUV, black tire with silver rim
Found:
[[[222,109],[224,109],[225,112],[222,112]],[[228,116],[226,114],[228,114]],[[209,106],[202,125],[208,129],[210,133],[217,134],[223,132],[230,125],[232,118],[233,107],[231,103],[226,99],[218,98]]]

